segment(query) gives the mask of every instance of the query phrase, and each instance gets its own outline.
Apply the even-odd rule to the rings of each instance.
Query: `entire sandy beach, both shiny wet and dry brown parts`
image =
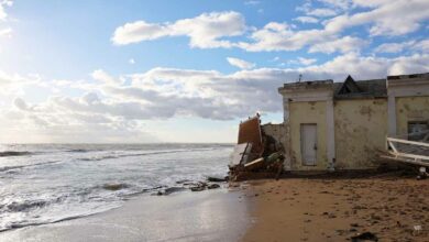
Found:
[[[429,180],[293,177],[142,195],[122,207],[0,233],[0,241],[428,241]]]

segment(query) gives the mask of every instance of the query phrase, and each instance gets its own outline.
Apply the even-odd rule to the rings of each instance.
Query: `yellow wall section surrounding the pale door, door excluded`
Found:
[[[326,170],[327,158],[327,102],[290,102],[289,103],[289,127],[290,127],[290,168],[293,170]],[[316,166],[302,165],[300,147],[300,124],[317,124],[317,162]]]

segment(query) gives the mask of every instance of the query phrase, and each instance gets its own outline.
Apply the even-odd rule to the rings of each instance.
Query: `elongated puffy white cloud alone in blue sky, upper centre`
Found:
[[[222,38],[240,35],[245,29],[244,18],[238,12],[211,12],[174,23],[127,23],[114,31],[112,41],[125,45],[165,36],[188,36],[191,47],[231,47],[232,44]]]

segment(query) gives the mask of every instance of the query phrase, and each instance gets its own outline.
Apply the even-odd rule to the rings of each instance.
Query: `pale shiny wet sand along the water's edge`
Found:
[[[95,216],[0,233],[0,241],[239,241],[250,218],[227,189],[142,196]]]

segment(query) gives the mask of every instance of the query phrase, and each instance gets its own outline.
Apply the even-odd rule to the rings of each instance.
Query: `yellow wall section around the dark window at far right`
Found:
[[[429,121],[429,97],[396,98],[396,133],[408,133],[409,121]]]

